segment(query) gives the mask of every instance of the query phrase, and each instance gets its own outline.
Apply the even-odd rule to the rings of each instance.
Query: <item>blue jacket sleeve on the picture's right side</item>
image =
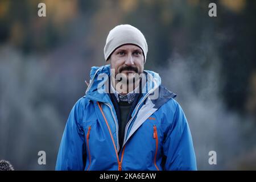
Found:
[[[179,104],[168,129],[163,152],[166,158],[165,170],[197,170],[191,132]]]

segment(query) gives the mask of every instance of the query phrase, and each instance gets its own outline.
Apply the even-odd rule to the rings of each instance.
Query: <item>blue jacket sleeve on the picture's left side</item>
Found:
[[[84,130],[80,125],[82,113],[82,106],[77,101],[69,114],[61,139],[55,167],[57,171],[84,170],[86,148]]]

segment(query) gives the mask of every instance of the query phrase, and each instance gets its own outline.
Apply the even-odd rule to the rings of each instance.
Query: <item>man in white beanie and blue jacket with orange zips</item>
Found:
[[[69,114],[56,170],[196,170],[187,119],[158,73],[144,70],[147,42],[128,24],[109,32],[102,67]]]

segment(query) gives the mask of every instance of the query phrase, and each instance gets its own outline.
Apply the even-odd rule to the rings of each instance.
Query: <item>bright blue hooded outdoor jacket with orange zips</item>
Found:
[[[148,79],[142,97],[119,146],[112,101],[107,93],[97,91],[104,81],[102,74],[110,75],[110,66],[92,67],[86,94],[69,114],[56,170],[197,169],[188,122],[176,95],[161,85],[158,73],[144,72]]]

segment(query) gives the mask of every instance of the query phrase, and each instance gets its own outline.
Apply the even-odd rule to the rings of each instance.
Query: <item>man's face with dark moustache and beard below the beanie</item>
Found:
[[[142,49],[133,44],[126,44],[115,49],[108,61],[110,61],[110,68],[115,71],[115,76],[121,73],[127,80],[133,79],[135,73],[140,75],[144,69]]]

